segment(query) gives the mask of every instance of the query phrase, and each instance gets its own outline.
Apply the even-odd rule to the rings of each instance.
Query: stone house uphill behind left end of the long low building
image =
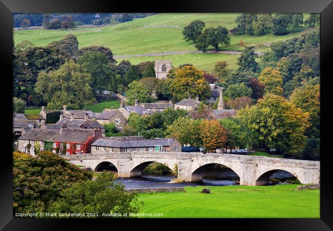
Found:
[[[114,123],[119,131],[126,125],[126,118],[118,109],[104,109],[96,115],[96,120],[100,124]]]

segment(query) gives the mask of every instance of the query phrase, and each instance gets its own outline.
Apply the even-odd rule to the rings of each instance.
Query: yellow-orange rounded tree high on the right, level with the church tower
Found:
[[[265,86],[265,93],[282,95],[283,78],[280,71],[267,67],[260,73],[258,80]]]

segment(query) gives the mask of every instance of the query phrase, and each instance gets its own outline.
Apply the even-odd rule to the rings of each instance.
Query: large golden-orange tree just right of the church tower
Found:
[[[203,71],[194,66],[185,66],[176,71],[175,78],[172,79],[170,90],[177,95],[178,100],[195,98],[200,99],[209,97],[211,91],[206,80],[203,78]]]

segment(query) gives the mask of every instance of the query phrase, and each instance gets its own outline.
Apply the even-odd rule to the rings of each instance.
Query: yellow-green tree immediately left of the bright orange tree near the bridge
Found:
[[[179,117],[166,129],[166,137],[174,138],[182,145],[201,146],[200,123],[201,120]]]

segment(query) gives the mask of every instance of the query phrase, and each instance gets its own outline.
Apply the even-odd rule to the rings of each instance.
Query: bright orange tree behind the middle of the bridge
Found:
[[[216,120],[204,120],[200,123],[200,138],[203,147],[213,152],[224,147],[227,140],[226,130]]]

